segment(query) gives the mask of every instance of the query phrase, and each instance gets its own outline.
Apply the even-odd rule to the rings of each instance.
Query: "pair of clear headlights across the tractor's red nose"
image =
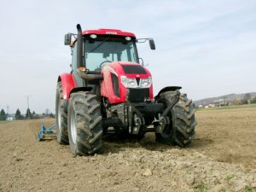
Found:
[[[121,82],[126,88],[148,88],[152,83],[152,79],[151,77],[148,79],[140,79],[139,84],[137,84],[137,79],[121,76]]]

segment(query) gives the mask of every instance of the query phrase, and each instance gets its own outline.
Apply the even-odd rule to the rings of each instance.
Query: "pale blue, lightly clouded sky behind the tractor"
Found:
[[[0,0],[0,109],[55,113],[58,75],[70,72],[64,35],[98,28],[154,38],[137,44],[154,95],[180,85],[192,100],[256,91],[255,0]],[[7,107],[8,106],[8,107]]]

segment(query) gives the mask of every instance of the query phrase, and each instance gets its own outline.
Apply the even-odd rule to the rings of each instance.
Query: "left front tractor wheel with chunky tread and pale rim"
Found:
[[[67,113],[72,153],[95,154],[102,147],[102,115],[96,95],[82,91],[71,94]]]

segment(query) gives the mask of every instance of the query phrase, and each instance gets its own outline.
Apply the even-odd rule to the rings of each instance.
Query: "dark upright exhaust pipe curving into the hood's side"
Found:
[[[86,73],[86,65],[83,66],[83,34],[82,28],[80,24],[77,25],[78,29],[78,38],[77,38],[77,71],[79,73],[79,77],[88,81],[102,80],[102,74],[96,74],[91,72]]]

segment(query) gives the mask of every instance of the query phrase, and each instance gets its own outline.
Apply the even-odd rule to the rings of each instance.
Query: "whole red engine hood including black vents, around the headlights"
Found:
[[[121,79],[124,78],[137,79],[137,84],[140,84],[142,79],[151,78],[151,73],[149,73],[148,69],[138,63],[111,62],[102,68],[102,75],[101,93],[102,96],[108,98],[110,103],[126,102],[128,93],[136,98],[140,96],[144,99],[144,97],[149,96],[151,100],[154,99],[152,83],[148,88],[126,88],[121,82]]]

